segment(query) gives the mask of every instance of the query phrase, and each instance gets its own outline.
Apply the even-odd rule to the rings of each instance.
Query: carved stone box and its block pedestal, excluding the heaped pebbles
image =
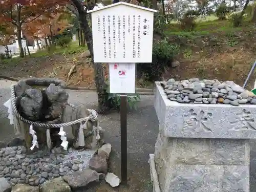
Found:
[[[156,82],[155,164],[162,192],[249,192],[256,105],[178,103]]]

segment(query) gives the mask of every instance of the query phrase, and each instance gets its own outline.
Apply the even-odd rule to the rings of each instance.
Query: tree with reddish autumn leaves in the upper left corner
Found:
[[[23,57],[22,30],[30,29],[33,34],[37,27],[29,27],[29,23],[40,24],[45,18],[52,18],[66,7],[68,0],[2,0],[0,3],[0,21],[16,28],[16,36]]]

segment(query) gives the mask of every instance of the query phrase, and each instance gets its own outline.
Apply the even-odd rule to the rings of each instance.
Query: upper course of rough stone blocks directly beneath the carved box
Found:
[[[168,138],[164,143],[158,137],[156,161],[167,164],[249,165],[249,140]]]

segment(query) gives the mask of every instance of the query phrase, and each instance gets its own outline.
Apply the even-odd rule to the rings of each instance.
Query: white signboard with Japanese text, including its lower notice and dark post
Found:
[[[110,93],[118,93],[121,180],[127,183],[127,93],[135,93],[135,63],[152,62],[153,9],[119,2],[92,13],[94,62],[109,63]],[[146,65],[146,64],[145,64]]]

